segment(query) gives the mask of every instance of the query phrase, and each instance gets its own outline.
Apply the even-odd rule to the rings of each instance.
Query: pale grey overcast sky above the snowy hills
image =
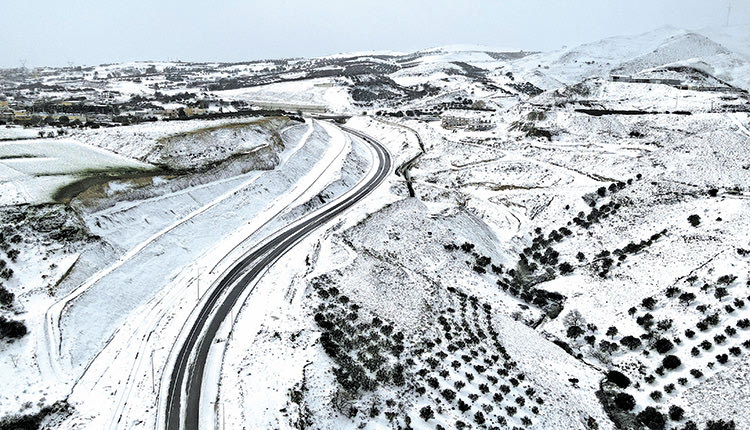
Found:
[[[448,44],[552,50],[725,25],[730,0],[4,0],[0,67],[241,61]],[[731,0],[732,24],[750,0]]]

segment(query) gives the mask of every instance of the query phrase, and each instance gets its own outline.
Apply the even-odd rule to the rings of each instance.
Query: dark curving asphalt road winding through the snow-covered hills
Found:
[[[331,205],[325,211],[303,223],[294,224],[276,233],[263,246],[235,264],[219,282],[205,302],[195,323],[190,327],[172,369],[166,399],[166,422],[164,423],[168,430],[198,430],[200,426],[198,411],[206,358],[221,323],[229,315],[244,290],[297,242],[362,200],[390,173],[391,156],[379,142],[364,133],[346,127],[340,128],[361,138],[375,149],[378,156],[375,175],[356,192]],[[181,414],[183,410],[184,415]]]

